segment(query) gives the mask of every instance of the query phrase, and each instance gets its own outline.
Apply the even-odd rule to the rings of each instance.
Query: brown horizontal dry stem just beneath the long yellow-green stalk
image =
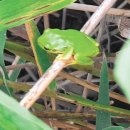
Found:
[[[95,112],[87,112],[87,113],[73,113],[73,112],[58,112],[58,111],[49,111],[49,112],[34,112],[39,118],[46,118],[46,119],[57,119],[57,120],[89,120],[93,121],[96,119]],[[112,116],[112,122],[116,123],[130,123],[130,118],[127,117],[119,117],[119,116]]]

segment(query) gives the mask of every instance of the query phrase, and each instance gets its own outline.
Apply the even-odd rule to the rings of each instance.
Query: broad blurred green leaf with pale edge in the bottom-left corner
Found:
[[[52,130],[0,91],[0,130]]]

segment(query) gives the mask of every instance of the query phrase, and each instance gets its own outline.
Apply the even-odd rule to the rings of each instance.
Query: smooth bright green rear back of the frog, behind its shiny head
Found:
[[[66,33],[75,48],[75,53],[80,53],[84,56],[97,53],[98,43],[90,36],[72,29],[67,30]]]

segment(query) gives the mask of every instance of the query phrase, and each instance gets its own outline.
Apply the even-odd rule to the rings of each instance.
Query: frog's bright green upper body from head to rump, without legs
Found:
[[[74,53],[82,56],[96,55],[98,52],[94,39],[73,29],[47,29],[41,41],[44,41],[44,44],[41,44],[43,48],[45,46],[48,49],[63,51],[65,48],[73,47]]]

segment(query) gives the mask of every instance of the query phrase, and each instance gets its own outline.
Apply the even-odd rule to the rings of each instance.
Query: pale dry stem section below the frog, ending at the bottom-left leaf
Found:
[[[30,89],[20,102],[20,105],[29,109],[66,65],[67,62],[64,62],[63,60],[55,61],[46,73],[36,82],[32,89]]]

